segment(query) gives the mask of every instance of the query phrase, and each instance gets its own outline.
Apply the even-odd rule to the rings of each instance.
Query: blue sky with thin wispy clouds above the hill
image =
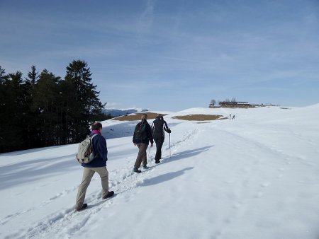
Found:
[[[319,1],[0,0],[0,66],[91,69],[106,107],[319,103]]]

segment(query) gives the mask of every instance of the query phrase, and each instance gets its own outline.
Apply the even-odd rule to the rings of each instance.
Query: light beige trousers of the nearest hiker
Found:
[[[87,187],[89,187],[89,184],[91,182],[91,179],[94,173],[99,173],[101,177],[102,197],[108,194],[108,170],[106,169],[106,167],[99,167],[99,168],[84,167],[82,182],[79,185],[79,190],[77,192],[77,200],[75,203],[75,209],[81,209],[81,207],[83,206],[86,190],[87,190]]]

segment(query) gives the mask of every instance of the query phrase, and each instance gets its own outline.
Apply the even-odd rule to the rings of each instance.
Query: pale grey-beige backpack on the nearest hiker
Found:
[[[79,143],[79,148],[77,148],[77,161],[79,163],[89,163],[94,160],[94,150],[93,150],[93,138],[98,134],[92,136],[86,136],[86,139]]]

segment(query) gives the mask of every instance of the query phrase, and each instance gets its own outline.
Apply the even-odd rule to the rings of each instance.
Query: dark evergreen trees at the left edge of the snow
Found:
[[[65,78],[35,66],[22,75],[0,66],[0,153],[78,143],[92,122],[111,118],[84,61],[71,62]]]

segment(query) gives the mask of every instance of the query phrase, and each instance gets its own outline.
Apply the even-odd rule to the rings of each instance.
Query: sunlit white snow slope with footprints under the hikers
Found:
[[[235,115],[186,121],[177,115]],[[94,175],[74,211],[77,144],[0,154],[0,238],[319,238],[319,104],[167,115],[155,165],[133,173],[137,122],[103,122],[110,190]]]

